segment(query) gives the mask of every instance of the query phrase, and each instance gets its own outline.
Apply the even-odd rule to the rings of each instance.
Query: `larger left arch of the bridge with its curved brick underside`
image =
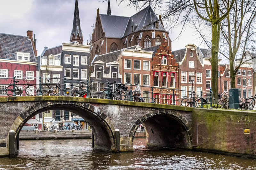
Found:
[[[115,148],[115,127],[110,119],[97,107],[90,103],[71,101],[41,101],[22,111],[11,126],[10,130],[15,131],[15,138],[19,135],[22,127],[33,116],[47,110],[71,111],[86,120],[92,128],[95,138],[94,146],[108,151],[116,151]],[[16,138],[17,142],[17,138]]]

